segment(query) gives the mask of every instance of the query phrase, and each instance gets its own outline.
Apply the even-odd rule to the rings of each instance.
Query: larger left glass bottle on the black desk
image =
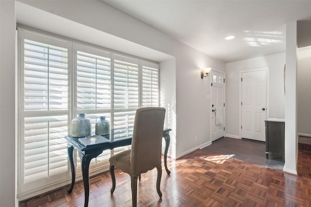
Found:
[[[71,136],[86,137],[91,135],[91,119],[86,117],[86,113],[79,113],[71,121]]]

